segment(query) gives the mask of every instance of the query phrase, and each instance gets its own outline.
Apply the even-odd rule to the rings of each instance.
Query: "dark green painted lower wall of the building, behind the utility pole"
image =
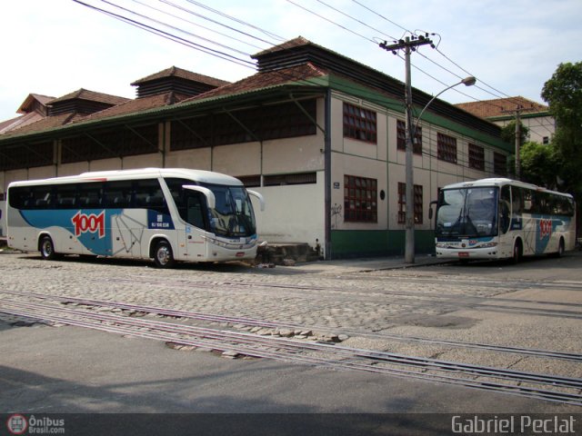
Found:
[[[332,230],[332,259],[404,255],[404,230]],[[434,253],[435,233],[415,231],[415,252]]]

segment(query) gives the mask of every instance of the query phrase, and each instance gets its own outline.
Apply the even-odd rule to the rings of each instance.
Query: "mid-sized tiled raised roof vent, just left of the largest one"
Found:
[[[137,87],[135,90],[137,98],[170,92],[185,97],[193,97],[225,84],[229,84],[229,82],[203,74],[192,73],[177,66],[171,66],[159,73],[136,80],[132,86]]]

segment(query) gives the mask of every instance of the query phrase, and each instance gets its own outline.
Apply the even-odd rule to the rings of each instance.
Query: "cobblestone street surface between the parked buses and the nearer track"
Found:
[[[567,262],[577,267],[582,257]],[[344,334],[343,344],[354,348],[582,377],[580,362],[431,342],[582,353],[582,281],[540,282],[516,276],[518,270],[507,278],[504,268],[495,265],[459,273],[437,264],[391,269],[395,264],[309,263],[274,269],[183,264],[159,270],[145,262],[77,257],[46,262],[13,253],[0,256],[0,297],[3,291],[42,292],[285,322],[300,330]],[[224,322],[221,327],[250,329]]]

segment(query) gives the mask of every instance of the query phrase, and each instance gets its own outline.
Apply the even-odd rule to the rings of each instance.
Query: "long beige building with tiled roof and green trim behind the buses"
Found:
[[[301,37],[254,58],[258,72],[233,84],[172,67],[136,81],[133,100],[80,90],[49,101],[45,118],[0,135],[0,192],[85,171],[205,169],[265,196],[261,239],[319,243],[328,259],[404,253],[404,84]],[[431,95],[413,99],[418,114]],[[499,134],[438,99],[423,114],[418,252],[432,250],[439,187],[505,174],[512,146]]]

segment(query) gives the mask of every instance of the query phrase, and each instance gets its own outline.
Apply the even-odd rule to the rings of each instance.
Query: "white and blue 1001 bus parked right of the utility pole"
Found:
[[[560,256],[576,245],[576,207],[568,193],[492,178],[449,184],[433,203],[440,258],[517,263],[525,255]]]

